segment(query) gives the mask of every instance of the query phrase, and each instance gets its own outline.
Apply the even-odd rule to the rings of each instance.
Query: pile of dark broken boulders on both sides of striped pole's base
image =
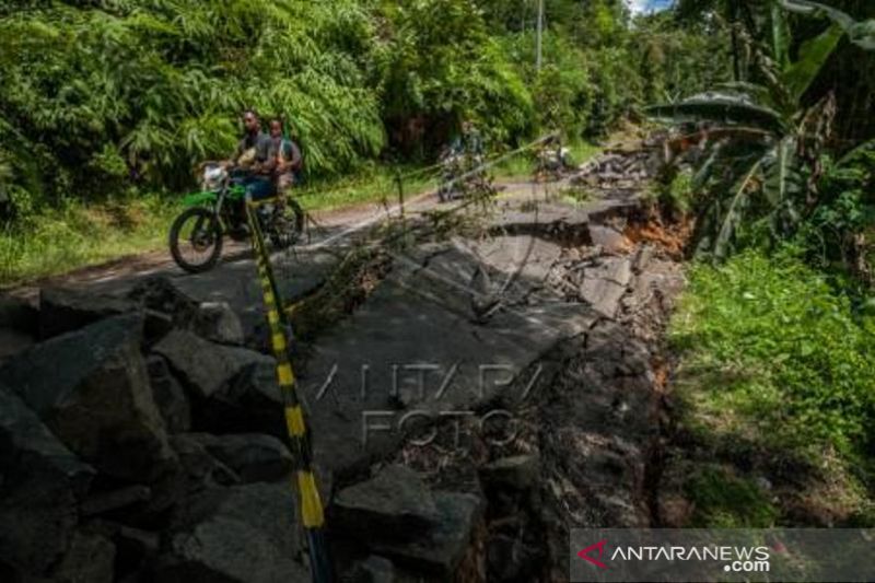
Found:
[[[0,581],[308,580],[275,361],[226,305],[152,279],[0,316],[35,340],[0,361]],[[328,512],[345,580],[419,581],[455,572],[482,505],[388,466]]]

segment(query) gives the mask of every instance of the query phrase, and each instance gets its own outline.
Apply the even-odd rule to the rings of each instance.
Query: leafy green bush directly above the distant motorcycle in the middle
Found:
[[[490,142],[515,141],[533,128],[528,89],[489,35],[470,0],[386,2],[388,39],[376,59],[383,117],[396,145],[421,145],[407,136],[416,124],[429,147],[446,141],[462,118],[475,118]]]

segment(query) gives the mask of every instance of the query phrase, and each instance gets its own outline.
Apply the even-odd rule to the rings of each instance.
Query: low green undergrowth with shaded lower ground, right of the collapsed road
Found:
[[[785,250],[692,267],[669,331],[679,424],[701,456],[695,467],[734,468],[690,474],[697,526],[781,520],[752,477],[786,486],[781,516],[797,520],[801,506],[814,522],[871,520],[874,333],[875,322]]]

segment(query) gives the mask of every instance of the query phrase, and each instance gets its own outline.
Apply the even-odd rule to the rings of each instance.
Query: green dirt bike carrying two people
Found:
[[[189,273],[212,269],[222,254],[225,235],[233,241],[247,241],[250,236],[246,215],[247,174],[230,171],[220,164],[206,164],[202,189],[187,195],[183,203],[188,207],[173,221],[170,234],[171,255],[176,265]],[[275,249],[294,245],[304,231],[304,211],[291,197],[285,205],[276,199],[259,202],[256,217],[261,232]]]

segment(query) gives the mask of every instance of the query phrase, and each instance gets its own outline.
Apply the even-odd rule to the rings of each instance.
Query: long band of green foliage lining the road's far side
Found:
[[[557,129],[584,143],[728,75],[711,26],[633,21],[621,0],[547,0],[546,14],[538,71],[535,14],[513,0],[5,2],[0,223],[19,267],[3,281],[51,271],[19,256],[55,241],[34,221],[194,188],[196,163],[232,151],[244,107],[287,118],[315,209],[382,198],[382,180],[359,177],[433,162],[464,118],[494,152]],[[340,183],[355,186],[317,200]],[[158,241],[128,234],[125,250]]]

